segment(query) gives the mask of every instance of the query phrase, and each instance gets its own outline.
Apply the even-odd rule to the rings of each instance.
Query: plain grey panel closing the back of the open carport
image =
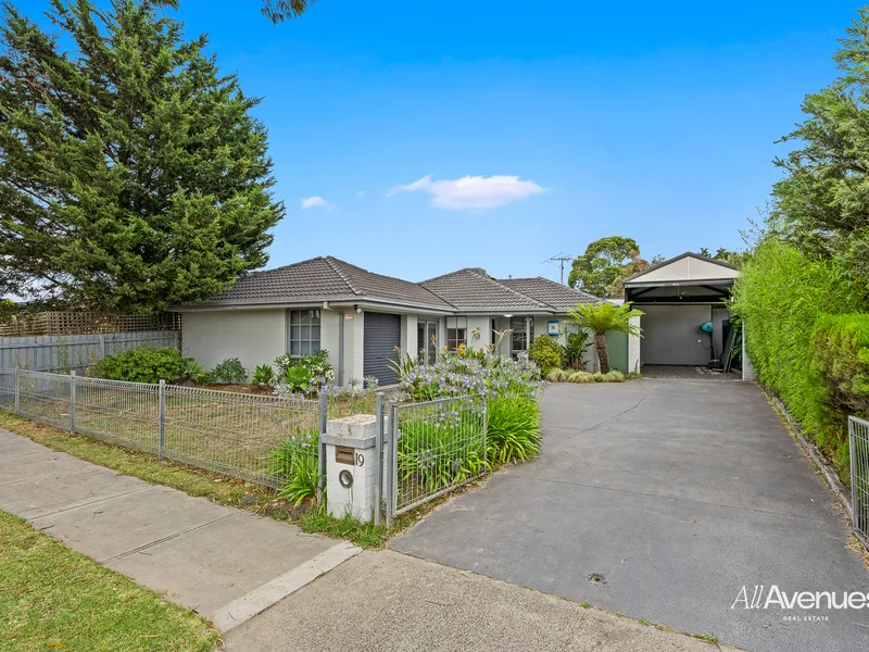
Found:
[[[643,364],[704,365],[709,362],[709,336],[700,325],[711,319],[710,305],[635,305],[645,313],[640,317],[643,338],[640,361]]]

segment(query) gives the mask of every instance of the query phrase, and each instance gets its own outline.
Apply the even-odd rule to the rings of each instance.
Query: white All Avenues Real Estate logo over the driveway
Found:
[[[829,622],[829,614],[795,613],[826,611],[859,611],[869,609],[869,592],[864,591],[793,591],[781,590],[778,585],[743,586],[730,609],[774,610],[782,612],[789,622]]]

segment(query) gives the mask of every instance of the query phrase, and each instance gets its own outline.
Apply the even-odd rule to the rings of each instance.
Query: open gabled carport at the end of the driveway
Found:
[[[640,318],[640,365],[705,365],[720,358],[730,313],[725,301],[739,276],[733,265],[683,253],[625,279],[625,299]],[[711,337],[701,325],[711,322]]]

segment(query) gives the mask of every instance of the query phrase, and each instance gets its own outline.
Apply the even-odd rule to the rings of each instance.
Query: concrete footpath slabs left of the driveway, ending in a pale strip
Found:
[[[231,629],[358,548],[0,429],[0,510]]]

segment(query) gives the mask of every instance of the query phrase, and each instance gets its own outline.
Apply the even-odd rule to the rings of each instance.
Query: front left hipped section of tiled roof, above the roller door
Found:
[[[368,298],[452,310],[415,283],[373,274],[332,256],[242,276],[229,290],[199,305],[260,305]]]

